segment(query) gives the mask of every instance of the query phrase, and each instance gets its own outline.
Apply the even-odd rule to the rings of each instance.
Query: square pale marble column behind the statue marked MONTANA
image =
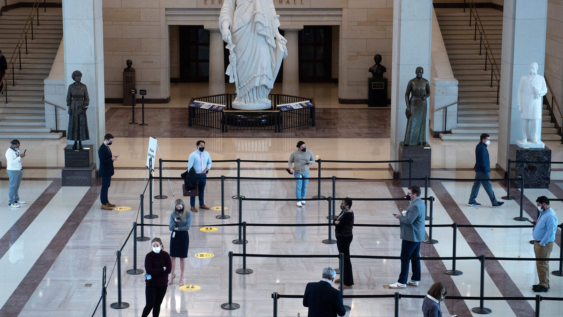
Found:
[[[106,134],[103,30],[102,0],[62,1],[65,86],[74,82],[70,77],[74,71],[82,72],[82,83],[88,87],[90,96],[86,112],[90,140],[83,144],[93,145],[96,162],[98,148]],[[119,138],[119,135],[115,137]],[[66,143],[73,144],[74,141]],[[97,166],[100,166],[99,162]]]

